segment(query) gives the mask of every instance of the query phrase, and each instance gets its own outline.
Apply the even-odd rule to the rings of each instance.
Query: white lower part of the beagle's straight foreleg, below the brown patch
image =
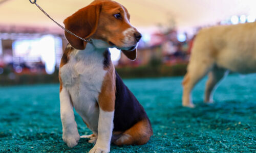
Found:
[[[110,142],[113,131],[114,111],[107,112],[99,110],[98,139],[89,153],[110,152]]]

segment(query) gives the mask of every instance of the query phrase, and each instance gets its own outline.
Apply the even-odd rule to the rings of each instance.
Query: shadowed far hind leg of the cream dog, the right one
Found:
[[[214,91],[217,88],[217,84],[227,74],[227,70],[223,68],[219,68],[217,66],[214,66],[214,68],[212,68],[212,70],[208,74],[208,80],[205,87],[204,103],[214,103],[212,95],[214,94]]]

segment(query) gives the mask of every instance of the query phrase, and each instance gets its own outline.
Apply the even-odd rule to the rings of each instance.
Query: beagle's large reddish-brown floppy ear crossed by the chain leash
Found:
[[[97,30],[101,5],[89,5],[78,10],[76,13],[64,20],[65,28],[82,38],[91,37]],[[86,48],[86,41],[83,41],[65,31],[65,36],[71,46],[76,49]]]

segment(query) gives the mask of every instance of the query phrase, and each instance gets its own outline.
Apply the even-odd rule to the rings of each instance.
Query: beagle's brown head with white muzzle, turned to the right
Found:
[[[96,0],[65,19],[64,24],[74,34],[92,39],[95,47],[117,47],[129,59],[137,57],[141,34],[131,25],[127,9],[117,2]],[[67,32],[65,36],[74,48],[86,48],[87,42]]]

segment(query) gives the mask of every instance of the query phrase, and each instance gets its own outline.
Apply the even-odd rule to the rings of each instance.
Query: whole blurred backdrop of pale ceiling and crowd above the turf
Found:
[[[138,58],[130,61],[118,49],[111,58],[123,78],[169,77],[186,71],[191,47],[201,28],[254,22],[256,1],[250,0],[116,0],[131,14],[142,33]],[[37,1],[62,21],[91,0]],[[29,0],[0,0],[0,84],[57,83],[63,30]]]

